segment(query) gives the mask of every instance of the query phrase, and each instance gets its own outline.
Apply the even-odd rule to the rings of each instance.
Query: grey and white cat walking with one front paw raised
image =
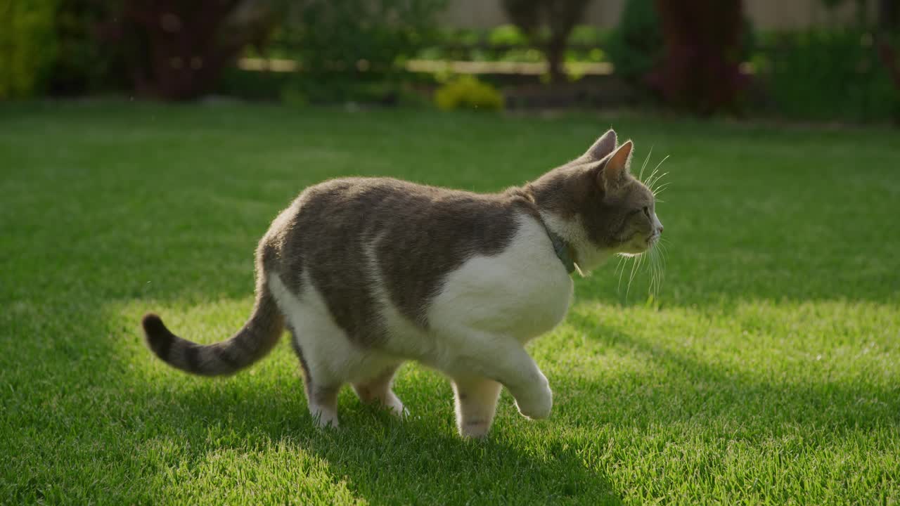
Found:
[[[390,178],[313,185],[260,240],[256,303],[237,334],[199,345],[148,313],[148,347],[189,373],[229,375],[266,356],[286,327],[320,426],[338,426],[347,383],[404,416],[392,380],[406,360],[450,377],[465,438],[488,434],[501,385],[522,415],[544,419],[553,393],[525,345],[563,321],[573,270],[640,254],[662,234],[653,193],[629,172],[632,150],[610,130],[499,194]]]

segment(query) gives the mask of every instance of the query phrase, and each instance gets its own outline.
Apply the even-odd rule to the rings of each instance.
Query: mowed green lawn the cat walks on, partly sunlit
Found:
[[[287,339],[228,379],[151,357],[139,318],[225,339],[257,239],[333,176],[496,191],[610,125],[671,186],[669,255],[577,279],[529,345],[549,420],[503,393],[455,435],[442,376],[410,420],[340,396],[311,426]],[[0,108],[0,501],[70,504],[896,504],[900,134],[588,115],[217,104]],[[327,220],[322,216],[322,220]]]

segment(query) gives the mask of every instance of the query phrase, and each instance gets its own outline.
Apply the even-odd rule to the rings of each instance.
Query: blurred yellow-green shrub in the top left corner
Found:
[[[0,0],[0,99],[38,94],[56,59],[55,0]]]

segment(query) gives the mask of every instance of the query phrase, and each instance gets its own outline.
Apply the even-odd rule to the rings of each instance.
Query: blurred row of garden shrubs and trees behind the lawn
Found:
[[[822,1],[866,10],[866,0]],[[134,89],[166,99],[224,93],[290,104],[398,104],[428,100],[419,88],[441,78],[406,72],[407,59],[553,58],[554,65],[611,60],[644,99],[655,93],[706,114],[736,109],[746,78],[737,65],[751,60],[760,85],[754,104],[771,113],[900,122],[900,34],[891,28],[900,14],[885,8],[887,0],[878,20],[858,12],[851,27],[761,34],[739,0],[686,0],[677,9],[627,0],[615,31],[575,25],[587,3],[508,0],[518,26],[438,30],[446,0],[0,0],[0,98]],[[550,45],[563,39],[564,50],[551,57]],[[234,68],[242,52],[295,59],[302,71]],[[475,77],[451,79],[434,101],[451,109],[504,105]]]

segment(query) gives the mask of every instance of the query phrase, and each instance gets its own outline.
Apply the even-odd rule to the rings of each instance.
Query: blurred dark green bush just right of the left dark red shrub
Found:
[[[392,103],[402,64],[437,35],[445,0],[283,0],[274,47],[302,72],[284,90],[293,102]]]

